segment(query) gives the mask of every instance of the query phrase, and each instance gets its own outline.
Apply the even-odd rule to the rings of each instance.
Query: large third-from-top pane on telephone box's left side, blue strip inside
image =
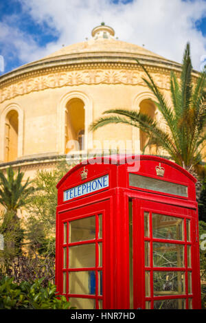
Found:
[[[71,271],[69,293],[95,295],[95,271]]]

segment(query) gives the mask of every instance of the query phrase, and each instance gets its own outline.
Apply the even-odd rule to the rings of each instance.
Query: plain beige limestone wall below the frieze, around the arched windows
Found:
[[[79,85],[34,91],[24,96],[1,103],[1,111],[12,104],[18,104],[23,111],[23,155],[29,157],[38,154],[63,153],[60,151],[60,129],[64,122],[60,120],[61,99],[69,93],[82,93],[92,104],[89,123],[99,118],[106,109],[134,107],[135,98],[145,87],[137,85]],[[3,133],[1,133],[1,136]],[[132,129],[122,124],[106,126],[93,133],[93,140],[132,140]]]

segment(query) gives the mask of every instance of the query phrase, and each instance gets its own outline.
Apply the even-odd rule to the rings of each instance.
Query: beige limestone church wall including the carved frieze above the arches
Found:
[[[69,78],[70,74],[73,78]],[[85,75],[91,73],[93,78],[90,80]],[[3,161],[3,144],[5,132],[3,129],[3,118],[6,111],[16,109],[19,113],[19,143],[18,158],[28,159],[31,157],[52,156],[65,153],[65,109],[67,102],[73,98],[79,98],[84,102],[85,110],[85,140],[89,147],[102,148],[104,140],[124,141],[139,140],[139,129],[135,129],[124,124],[112,124],[98,129],[94,133],[87,132],[89,124],[96,120],[106,109],[139,109],[143,100],[154,98],[148,88],[143,85],[141,77],[142,71],[124,69],[121,65],[119,69],[76,69],[76,78],[74,71],[68,71],[68,82],[63,83],[62,72],[56,71],[54,74],[45,73],[43,76],[25,79],[25,84],[33,84],[35,80],[36,87],[34,91],[29,91],[28,87],[22,90],[22,82],[16,81],[16,93],[21,86],[21,95],[13,95],[11,99],[6,96],[1,98],[0,104],[0,161]],[[150,74],[157,81],[161,91],[170,100],[170,91],[168,85],[169,69],[151,70]],[[67,73],[64,77],[66,80]],[[102,76],[102,79],[100,78]],[[71,76],[71,75],[70,75]],[[99,79],[98,79],[99,77]],[[80,79],[81,78],[81,79]],[[58,80],[53,82],[52,80]],[[44,80],[44,82],[42,82]],[[97,82],[98,80],[98,82]],[[38,84],[38,86],[37,86]],[[8,84],[8,89],[11,85]],[[4,93],[7,93],[3,90]],[[10,94],[11,96],[12,94]],[[10,97],[8,96],[8,97]],[[155,119],[161,124],[161,116],[156,111]],[[96,143],[100,141],[99,147]],[[134,147],[133,147],[134,148]],[[147,151],[146,151],[147,153]],[[148,151],[148,153],[151,153]]]

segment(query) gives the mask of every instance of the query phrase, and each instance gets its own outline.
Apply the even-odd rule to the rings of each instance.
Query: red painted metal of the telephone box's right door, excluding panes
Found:
[[[188,307],[188,297],[193,299],[193,309],[201,309],[201,285],[200,285],[200,273],[199,273],[199,252],[198,252],[198,235],[196,233],[196,223],[198,221],[197,214],[194,210],[187,208],[180,208],[178,206],[170,208],[169,205],[165,205],[163,203],[157,203],[155,201],[146,201],[141,199],[135,199],[133,202],[134,205],[134,221],[137,221],[136,225],[140,228],[138,232],[136,232],[136,236],[134,236],[134,244],[135,251],[134,254],[134,272],[136,275],[134,276],[135,280],[135,308],[141,307],[141,309],[145,308],[145,301],[148,300],[152,303],[154,300],[169,300],[174,298],[184,298],[186,300],[186,307]],[[150,212],[150,237],[144,238],[144,212]],[[160,238],[152,238],[152,213],[164,214],[175,216],[180,219],[190,219],[191,232],[192,232],[192,241],[186,240],[186,224],[184,224],[185,233],[184,233],[184,241],[175,241],[170,239],[160,239]],[[135,219],[136,218],[136,219]],[[185,222],[186,223],[186,222]],[[135,223],[134,223],[135,227]],[[150,266],[144,266],[144,241],[150,242]],[[153,267],[152,265],[152,242],[161,242],[161,243],[173,243],[185,246],[185,266],[184,267]],[[187,268],[187,245],[192,246],[192,267]],[[139,248],[139,253],[137,254],[137,249]],[[145,296],[145,288],[144,288],[144,271],[150,271],[150,289],[151,296]],[[183,295],[176,296],[154,296],[153,295],[153,280],[152,274],[154,271],[183,271],[185,272],[185,293]],[[188,295],[187,289],[187,273],[192,271],[192,293]],[[139,291],[139,288],[140,290]]]

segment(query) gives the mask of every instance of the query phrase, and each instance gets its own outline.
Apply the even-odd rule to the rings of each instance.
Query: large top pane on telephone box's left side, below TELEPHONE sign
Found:
[[[69,243],[95,239],[95,216],[70,221]]]

